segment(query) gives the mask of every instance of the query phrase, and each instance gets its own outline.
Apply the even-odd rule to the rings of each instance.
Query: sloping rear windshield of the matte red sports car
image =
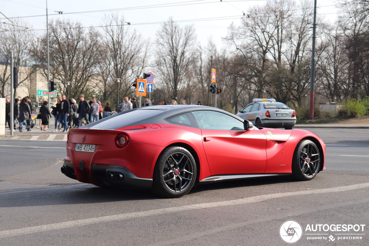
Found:
[[[127,113],[109,116],[106,119],[97,121],[96,124],[92,123],[91,125],[87,125],[87,126],[90,126],[88,128],[92,128],[92,129],[114,130],[120,127],[129,126],[135,122],[158,115],[159,113],[162,113],[162,112],[163,110],[157,110],[157,109],[132,110]]]

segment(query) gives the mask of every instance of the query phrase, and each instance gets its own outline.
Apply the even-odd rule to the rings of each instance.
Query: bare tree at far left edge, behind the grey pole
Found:
[[[29,23],[19,19],[15,21],[18,25],[27,26],[32,29]],[[28,54],[29,45],[34,38],[32,31],[27,31],[23,27],[0,24],[0,98],[10,95],[10,51],[13,52],[14,66],[19,68],[18,85],[29,83],[31,75],[36,71],[32,67],[32,59]],[[28,85],[28,84],[27,84]],[[28,93],[29,93],[29,86]],[[14,96],[17,89],[14,90]],[[30,93],[28,94],[30,95]]]

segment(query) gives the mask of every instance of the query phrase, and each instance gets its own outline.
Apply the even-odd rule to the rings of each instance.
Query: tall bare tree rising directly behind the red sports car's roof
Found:
[[[173,18],[169,18],[156,33],[156,65],[161,86],[167,96],[177,100],[182,89],[187,69],[196,59],[194,44],[196,41],[193,26],[180,28]]]

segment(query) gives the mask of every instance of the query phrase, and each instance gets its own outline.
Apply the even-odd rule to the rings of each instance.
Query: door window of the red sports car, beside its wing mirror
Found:
[[[201,129],[207,130],[244,130],[244,123],[225,113],[203,110],[193,111]]]

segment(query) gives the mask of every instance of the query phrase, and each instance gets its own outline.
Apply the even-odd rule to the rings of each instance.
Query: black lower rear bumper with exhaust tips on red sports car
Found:
[[[79,170],[77,170],[79,171]],[[86,172],[86,170],[84,170]],[[69,178],[77,180],[73,163],[64,161],[62,173]],[[118,165],[97,165],[92,164],[90,173],[85,175],[90,177],[91,184],[96,185],[111,185],[117,187],[142,187],[150,188],[152,186],[152,179],[138,178],[130,170]],[[98,182],[95,182],[98,181]],[[85,182],[85,181],[83,181]]]

